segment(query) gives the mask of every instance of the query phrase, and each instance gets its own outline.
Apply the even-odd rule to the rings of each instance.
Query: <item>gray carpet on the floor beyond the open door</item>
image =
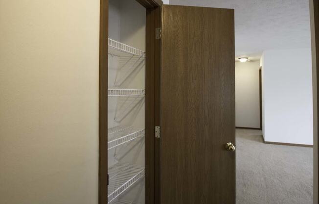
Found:
[[[313,148],[264,144],[236,130],[236,204],[312,204]]]

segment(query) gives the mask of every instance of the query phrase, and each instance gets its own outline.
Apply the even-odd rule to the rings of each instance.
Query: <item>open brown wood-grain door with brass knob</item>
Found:
[[[235,204],[234,11],[162,6],[161,204]]]

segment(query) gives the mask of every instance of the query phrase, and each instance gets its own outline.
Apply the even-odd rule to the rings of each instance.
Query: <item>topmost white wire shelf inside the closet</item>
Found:
[[[145,57],[145,52],[141,51],[137,48],[131,47],[129,45],[126,45],[124,43],[120,43],[116,40],[113,40],[109,38],[109,53],[114,54],[116,56],[129,56],[129,55],[138,55],[141,57]]]

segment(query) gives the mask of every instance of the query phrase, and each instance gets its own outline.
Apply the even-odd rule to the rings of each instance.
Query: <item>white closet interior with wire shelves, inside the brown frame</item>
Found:
[[[145,13],[109,0],[108,204],[145,204]]]

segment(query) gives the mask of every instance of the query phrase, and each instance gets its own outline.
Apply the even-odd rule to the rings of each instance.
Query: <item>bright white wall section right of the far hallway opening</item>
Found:
[[[263,53],[264,138],[313,145],[311,49]]]

